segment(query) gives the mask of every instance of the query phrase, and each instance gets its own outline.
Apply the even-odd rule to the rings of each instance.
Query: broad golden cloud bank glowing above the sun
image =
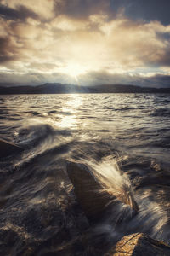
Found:
[[[143,69],[150,73],[150,67],[170,66],[170,43],[164,37],[170,36],[170,26],[158,21],[144,23],[122,15],[111,19],[101,12],[86,18],[62,12],[56,16],[54,6],[65,9],[67,3],[59,0],[2,3],[11,9],[24,5],[41,17],[27,17],[25,22],[1,18],[0,61],[8,71],[17,73],[22,68],[23,72],[64,73],[76,78],[99,71],[122,74]]]

